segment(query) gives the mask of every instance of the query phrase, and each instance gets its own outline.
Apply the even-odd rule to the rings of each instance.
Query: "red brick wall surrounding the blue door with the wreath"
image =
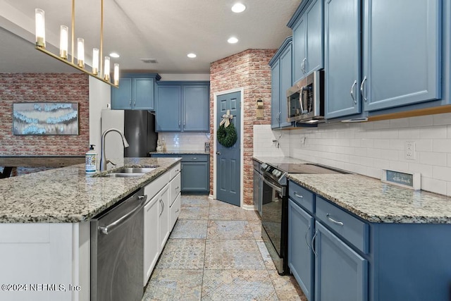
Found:
[[[242,107],[244,110],[244,204],[252,204],[253,177],[253,128],[254,124],[271,123],[271,68],[268,62],[276,53],[276,49],[248,49],[239,54],[228,56],[210,66],[210,128],[211,145],[214,142],[214,93],[243,87],[244,96]],[[264,119],[257,120],[255,110],[257,99],[264,101]],[[210,192],[213,193],[213,147],[210,150]]]

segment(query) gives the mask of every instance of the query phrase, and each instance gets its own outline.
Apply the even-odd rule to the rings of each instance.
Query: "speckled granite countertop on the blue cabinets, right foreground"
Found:
[[[373,223],[451,223],[451,197],[354,174],[288,178]]]

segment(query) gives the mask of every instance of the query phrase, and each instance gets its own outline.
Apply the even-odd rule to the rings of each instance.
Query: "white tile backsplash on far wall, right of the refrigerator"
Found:
[[[166,143],[166,151],[199,151],[205,150],[205,142],[210,142],[209,133],[158,133],[159,140]],[[211,147],[211,145],[210,145]]]

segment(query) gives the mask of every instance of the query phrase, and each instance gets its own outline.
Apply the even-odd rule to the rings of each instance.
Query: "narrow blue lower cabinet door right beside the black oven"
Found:
[[[288,266],[308,300],[313,300],[314,253],[311,238],[314,218],[290,199],[288,201]]]

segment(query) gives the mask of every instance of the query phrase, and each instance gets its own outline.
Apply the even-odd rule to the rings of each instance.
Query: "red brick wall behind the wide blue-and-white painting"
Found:
[[[13,135],[14,102],[78,102],[79,135]],[[0,156],[82,156],[88,147],[88,75],[0,73]]]

